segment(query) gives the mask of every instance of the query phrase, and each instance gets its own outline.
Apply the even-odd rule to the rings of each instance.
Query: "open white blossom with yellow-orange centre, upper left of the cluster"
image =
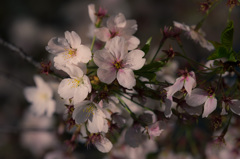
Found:
[[[66,64],[87,63],[91,60],[91,50],[81,44],[81,38],[74,31],[65,32],[65,38],[54,37],[49,40],[46,50],[54,55],[54,66],[62,70]]]

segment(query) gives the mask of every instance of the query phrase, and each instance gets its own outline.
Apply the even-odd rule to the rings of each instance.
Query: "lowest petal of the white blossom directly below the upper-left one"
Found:
[[[75,89],[74,96],[73,96],[74,105],[82,102],[85,98],[87,98],[87,95],[88,95],[88,88],[85,87],[83,84],[78,86]]]

